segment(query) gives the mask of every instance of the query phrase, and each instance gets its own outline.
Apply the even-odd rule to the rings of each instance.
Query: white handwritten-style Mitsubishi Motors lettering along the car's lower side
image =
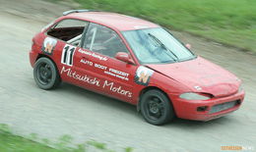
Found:
[[[132,92],[125,90],[122,86],[116,85],[112,81],[103,80],[100,81],[97,77],[87,76],[87,75],[80,75],[76,71],[72,71],[71,68],[62,67],[60,72],[61,75],[66,75],[71,78],[77,79],[79,81],[83,81],[92,85],[96,85],[97,87],[102,87],[103,89],[110,90],[111,92],[121,94],[127,97],[132,97]]]

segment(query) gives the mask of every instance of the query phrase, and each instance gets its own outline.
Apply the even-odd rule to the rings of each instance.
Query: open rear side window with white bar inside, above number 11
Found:
[[[81,42],[82,34],[88,22],[80,20],[63,20],[47,31],[47,34],[67,43],[78,46]]]

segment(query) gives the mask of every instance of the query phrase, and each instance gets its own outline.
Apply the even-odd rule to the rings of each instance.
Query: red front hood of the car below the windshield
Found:
[[[240,83],[236,76],[201,57],[185,62],[147,67],[179,81],[194,92],[211,93],[216,97],[236,93]]]

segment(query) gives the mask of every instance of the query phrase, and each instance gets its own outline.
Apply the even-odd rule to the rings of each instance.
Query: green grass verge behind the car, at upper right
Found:
[[[256,52],[255,0],[75,0]]]

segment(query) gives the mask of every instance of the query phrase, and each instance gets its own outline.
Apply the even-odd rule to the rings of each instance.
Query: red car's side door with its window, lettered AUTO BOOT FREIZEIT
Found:
[[[117,52],[129,53],[119,35],[112,29],[91,23],[78,51],[79,67],[85,74],[96,77],[103,94],[132,101],[137,66],[115,59]]]

